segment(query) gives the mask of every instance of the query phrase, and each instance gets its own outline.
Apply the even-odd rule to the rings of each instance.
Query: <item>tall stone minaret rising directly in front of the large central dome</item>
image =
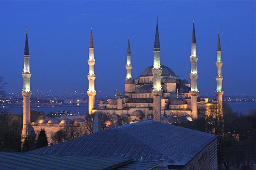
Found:
[[[153,79],[153,115],[155,121],[161,121],[161,96],[162,96],[162,88],[161,88],[161,74],[162,68],[160,64],[160,42],[159,42],[159,34],[158,34],[158,18],[156,19],[156,36],[154,43],[154,65],[152,68],[152,74],[154,76]]]

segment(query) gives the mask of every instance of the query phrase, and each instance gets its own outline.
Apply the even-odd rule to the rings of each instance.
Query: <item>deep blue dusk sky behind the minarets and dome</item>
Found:
[[[218,27],[224,96],[254,96],[255,6],[255,1],[0,1],[0,76],[8,93],[21,94],[27,26],[32,93],[86,92],[92,24],[96,92],[124,92],[128,34],[136,78],[153,64],[158,16],[161,64],[190,81],[194,17],[200,96],[215,95]]]

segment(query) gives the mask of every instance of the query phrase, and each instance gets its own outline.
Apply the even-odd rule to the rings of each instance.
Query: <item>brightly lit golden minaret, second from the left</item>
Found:
[[[92,114],[92,109],[94,108],[94,102],[95,102],[95,95],[96,91],[94,89],[94,80],[96,78],[94,74],[94,64],[95,64],[95,59],[94,59],[94,52],[93,52],[93,40],[92,40],[92,26],[91,26],[91,36],[90,36],[90,45],[89,45],[89,60],[87,60],[88,65],[89,65],[89,74],[87,76],[89,80],[89,87],[87,94],[89,96],[89,104],[88,104],[88,113]]]

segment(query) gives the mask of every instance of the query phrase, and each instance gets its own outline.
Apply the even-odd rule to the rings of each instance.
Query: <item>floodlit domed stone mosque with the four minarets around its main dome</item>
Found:
[[[90,46],[91,43],[92,42],[90,41]],[[181,119],[186,121],[196,120],[198,119],[198,116],[207,114],[210,107],[218,108],[219,112],[222,114],[222,95],[224,93],[222,90],[223,62],[221,61],[219,32],[216,61],[217,74],[215,76],[217,82],[217,99],[212,101],[209,101],[208,98],[199,97],[197,84],[198,56],[196,55],[194,20],[192,28],[191,56],[188,57],[188,60],[191,62],[191,83],[186,78],[183,80],[180,79],[172,69],[164,66],[160,62],[158,22],[156,24],[153,53],[153,65],[143,70],[137,78],[132,78],[132,55],[130,38],[128,38],[124,92],[116,95],[115,98],[109,98],[107,101],[101,100],[98,109],[90,107],[92,103],[89,100],[88,113],[98,112],[104,114],[116,114],[118,116],[135,116],[138,120],[153,119],[167,123],[180,122]],[[90,108],[92,108],[92,110],[90,110]],[[177,120],[178,117],[180,120]]]

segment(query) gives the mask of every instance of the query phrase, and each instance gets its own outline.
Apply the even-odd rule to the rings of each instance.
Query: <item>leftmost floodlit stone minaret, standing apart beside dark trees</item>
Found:
[[[25,137],[28,137],[28,129],[30,127],[30,96],[32,92],[30,91],[30,64],[29,64],[29,50],[28,50],[28,29],[26,29],[26,41],[24,49],[24,69],[22,72],[23,77],[23,128],[22,128],[22,147],[25,141]]]

